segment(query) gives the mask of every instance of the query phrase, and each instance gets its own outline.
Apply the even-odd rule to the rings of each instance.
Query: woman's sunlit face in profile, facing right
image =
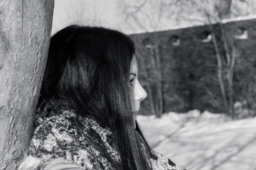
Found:
[[[131,89],[131,103],[132,103],[132,114],[134,120],[134,128],[136,128],[135,120],[137,118],[137,113],[139,111],[140,102],[146,98],[146,91],[143,89],[142,85],[139,84],[138,79],[138,64],[137,60],[132,57],[130,73],[129,73],[129,86]]]

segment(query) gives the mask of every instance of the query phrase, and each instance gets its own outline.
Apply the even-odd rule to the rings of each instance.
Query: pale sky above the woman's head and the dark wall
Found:
[[[137,11],[137,6],[144,4],[144,0],[55,0],[52,35],[75,23],[113,28],[127,34],[198,26],[206,23],[202,13],[196,12],[189,4],[185,6],[186,11],[182,12],[177,6],[161,5],[164,2],[168,4],[169,1],[146,1],[147,3]],[[247,1],[252,1],[255,6],[243,1],[233,1],[231,11],[239,13],[235,17],[256,14],[255,0]],[[127,13],[133,11],[133,14],[128,17],[123,11]]]

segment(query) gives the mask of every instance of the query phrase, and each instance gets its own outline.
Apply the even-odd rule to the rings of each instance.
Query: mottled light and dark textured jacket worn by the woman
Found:
[[[34,124],[30,154],[41,158],[42,164],[63,158],[81,169],[112,170],[115,167],[110,162],[120,163],[112,132],[89,116],[84,118],[70,109],[56,113],[43,107],[36,113]],[[111,160],[100,152],[102,148]],[[151,151],[150,161],[153,169],[183,170],[154,151]]]

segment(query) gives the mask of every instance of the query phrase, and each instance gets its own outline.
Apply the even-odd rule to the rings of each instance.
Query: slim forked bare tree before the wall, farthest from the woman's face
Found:
[[[205,23],[210,28],[210,33],[212,36],[212,42],[215,50],[215,57],[217,60],[217,72],[218,72],[218,82],[220,86],[220,92],[223,96],[223,102],[224,105],[230,115],[233,115],[233,67],[231,67],[231,60],[235,62],[235,55],[230,55],[229,49],[228,49],[228,39],[225,36],[225,26],[222,24],[223,18],[229,18],[230,17],[230,5],[231,0],[225,0],[225,1],[190,1],[191,6],[193,6],[193,9],[197,11],[198,13],[201,13],[203,18],[206,18]],[[223,47],[225,50],[225,57],[227,61],[227,67],[223,67],[223,60],[221,60],[221,54],[220,49],[218,46],[218,42],[216,40],[215,30],[213,28],[213,24],[219,23],[220,26],[220,33],[221,38],[223,40]],[[235,54],[235,53],[234,53]],[[231,59],[232,57],[232,59]],[[235,64],[235,63],[234,63]],[[224,69],[227,69],[227,78],[228,78],[228,95],[226,94],[226,88],[225,88],[225,82],[223,79],[223,72]],[[229,101],[229,102],[228,102]]]

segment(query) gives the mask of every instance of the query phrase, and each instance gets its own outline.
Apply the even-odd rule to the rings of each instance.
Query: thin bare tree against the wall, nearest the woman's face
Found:
[[[132,4],[135,3],[135,4]],[[160,4],[159,4],[160,3]],[[132,29],[140,29],[146,32],[152,31],[151,40],[144,40],[144,50],[148,57],[140,60],[150,60],[153,72],[146,72],[146,79],[149,94],[149,103],[151,106],[151,113],[160,118],[164,112],[164,96],[163,96],[163,77],[161,64],[161,44],[159,38],[154,33],[158,30],[161,24],[161,19],[164,18],[164,8],[161,8],[161,1],[119,1],[119,8],[124,13],[124,23],[129,23],[128,26]],[[160,8],[156,8],[159,6]],[[139,12],[139,15],[137,15]],[[154,15],[151,15],[154,13]],[[146,69],[144,62],[141,62],[141,67]]]

